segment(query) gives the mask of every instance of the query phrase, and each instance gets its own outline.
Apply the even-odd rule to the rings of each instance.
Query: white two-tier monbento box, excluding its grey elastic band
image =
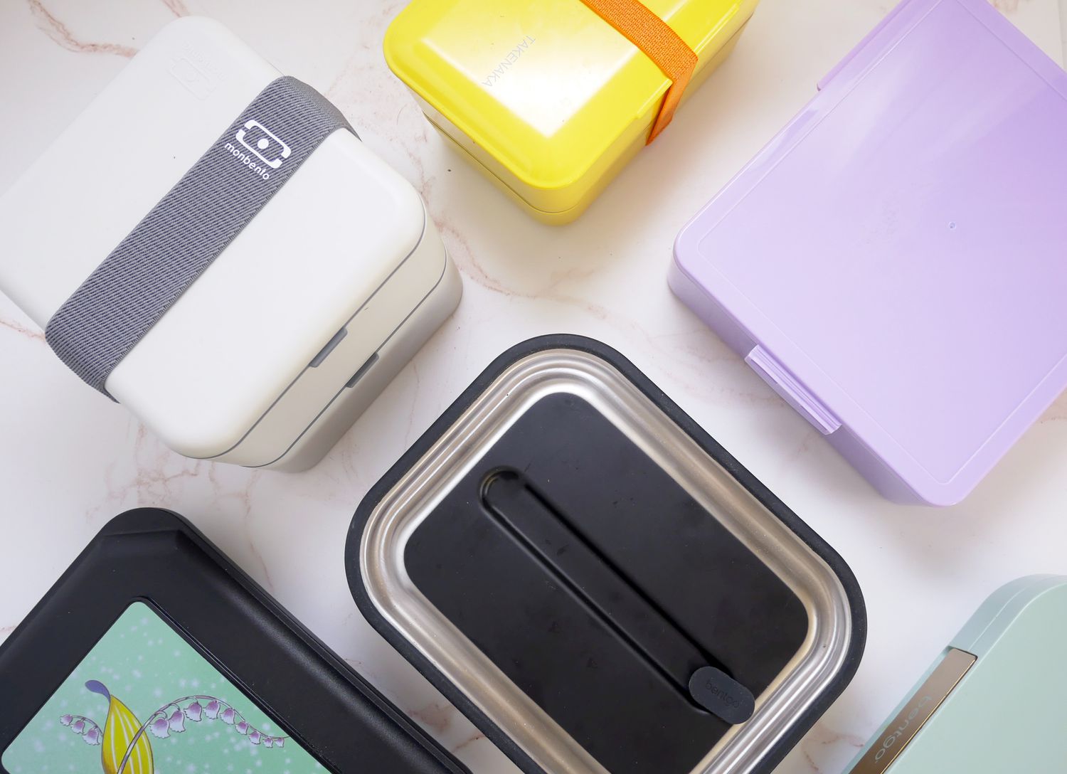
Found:
[[[166,26],[0,199],[0,289],[45,328],[280,75],[216,21]],[[275,173],[246,142],[230,144]],[[150,259],[164,271],[173,255]],[[460,293],[415,190],[336,130],[118,362],[107,392],[187,457],[303,470]]]

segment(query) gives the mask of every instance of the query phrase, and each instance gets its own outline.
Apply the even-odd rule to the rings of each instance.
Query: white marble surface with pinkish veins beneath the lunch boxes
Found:
[[[946,510],[881,500],[668,291],[672,239],[813,94],[891,0],[764,0],[735,53],[576,224],[542,226],[430,129],[386,68],[402,0],[0,0],[0,188],[175,15],[214,16],[325,92],[425,195],[465,283],[457,314],[315,470],[181,459],[66,373],[0,296],[0,637],[111,516],[191,518],[313,631],[456,751],[515,769],[364,621],[341,550],[367,488],[508,346],[574,332],[628,356],[851,565],[870,637],[851,685],[782,763],[840,772],[993,588],[1067,573],[1067,397]],[[997,0],[1062,61],[1057,0]],[[61,224],[58,227],[62,227]],[[2,255],[0,255],[2,259]]]

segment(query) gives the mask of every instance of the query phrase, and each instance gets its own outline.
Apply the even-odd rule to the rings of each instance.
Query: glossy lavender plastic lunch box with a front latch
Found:
[[[954,504],[1067,386],[1067,74],[907,0],[819,89],[670,284],[886,496]]]

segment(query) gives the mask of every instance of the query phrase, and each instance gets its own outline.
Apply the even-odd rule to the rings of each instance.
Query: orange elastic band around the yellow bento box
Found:
[[[639,0],[582,0],[593,13],[643,51],[671,79],[659,115],[649,135],[651,143],[674,117],[682,94],[697,69],[697,53],[670,26]]]

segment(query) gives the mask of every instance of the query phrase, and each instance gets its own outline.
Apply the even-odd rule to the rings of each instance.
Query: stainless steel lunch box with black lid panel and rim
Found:
[[[490,365],[346,555],[364,615],[529,774],[770,772],[865,636],[840,557],[576,336]]]

